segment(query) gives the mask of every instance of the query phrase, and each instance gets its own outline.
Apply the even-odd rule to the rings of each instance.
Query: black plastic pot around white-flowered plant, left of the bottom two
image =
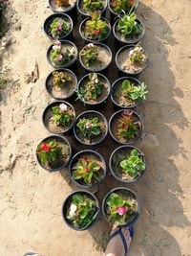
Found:
[[[90,223],[88,226],[85,226],[85,227],[81,227],[81,228],[77,228],[75,227],[71,221],[67,220],[67,207],[68,207],[68,204],[70,203],[70,200],[71,198],[75,195],[75,194],[82,194],[82,195],[87,195],[88,197],[94,199],[96,201],[96,206],[97,206],[97,215],[96,215],[96,219],[92,221],[92,223]],[[71,193],[65,200],[64,200],[64,203],[63,203],[63,206],[62,206],[62,217],[63,217],[63,220],[65,221],[65,223],[72,229],[74,229],[75,231],[85,231],[85,230],[89,230],[91,229],[95,224],[96,222],[98,221],[99,219],[99,214],[100,214],[100,207],[99,207],[99,203],[98,203],[98,200],[96,198],[96,196],[89,192],[89,191],[86,191],[86,190],[76,190],[74,191],[73,193]]]

